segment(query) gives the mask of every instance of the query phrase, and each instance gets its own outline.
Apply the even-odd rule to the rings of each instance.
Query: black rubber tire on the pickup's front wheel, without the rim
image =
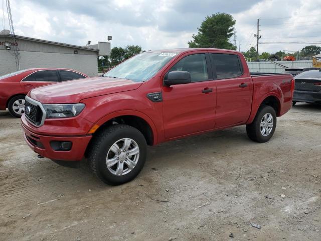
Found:
[[[111,146],[117,141],[124,138],[130,138],[134,142],[136,142],[139,148],[139,156],[132,170],[124,175],[117,176],[108,170],[106,157]],[[146,149],[146,140],[142,133],[137,129],[122,124],[113,125],[106,129],[103,129],[93,137],[87,155],[88,164],[93,173],[104,183],[110,185],[123,184],[134,179],[143,168],[146,160]],[[115,165],[118,166],[119,163]],[[126,166],[127,164],[125,165],[125,161],[122,165],[129,168],[129,166]]]

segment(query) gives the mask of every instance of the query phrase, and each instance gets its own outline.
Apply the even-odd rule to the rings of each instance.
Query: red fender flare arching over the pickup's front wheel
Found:
[[[137,110],[131,110],[131,109],[126,109],[126,110],[119,110],[115,111],[109,114],[106,114],[103,116],[101,119],[99,119],[98,122],[96,122],[93,126],[98,125],[99,127],[102,126],[104,123],[108,122],[112,118],[116,118],[122,115],[134,115],[137,117],[142,118],[150,127],[152,136],[153,136],[153,145],[155,145],[158,142],[158,136],[157,136],[157,129],[151,118],[149,118],[146,114],[137,111]]]

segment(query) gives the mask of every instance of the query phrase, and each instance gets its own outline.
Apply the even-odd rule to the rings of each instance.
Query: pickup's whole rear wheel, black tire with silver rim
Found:
[[[254,121],[246,126],[246,133],[251,140],[263,143],[271,139],[275,127],[275,110],[271,106],[263,105],[257,111]]]

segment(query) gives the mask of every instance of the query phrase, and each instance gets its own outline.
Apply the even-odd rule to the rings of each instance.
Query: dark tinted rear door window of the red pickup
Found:
[[[229,79],[242,75],[239,58],[235,54],[212,54],[217,79]]]

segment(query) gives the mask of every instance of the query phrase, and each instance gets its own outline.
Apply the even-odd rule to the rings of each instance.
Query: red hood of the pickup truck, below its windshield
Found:
[[[28,95],[43,104],[78,103],[90,97],[134,90],[141,84],[128,79],[99,76],[35,88]]]

